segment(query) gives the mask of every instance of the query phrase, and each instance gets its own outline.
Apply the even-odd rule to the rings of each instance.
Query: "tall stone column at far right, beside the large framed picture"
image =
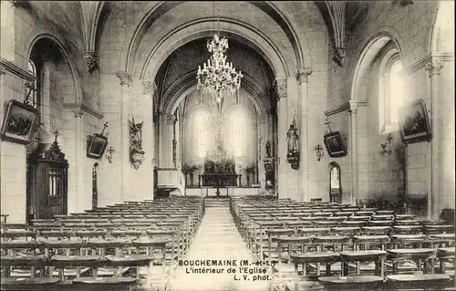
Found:
[[[432,140],[430,141],[430,193],[428,193],[428,215],[430,218],[438,219],[440,216],[440,197],[442,194],[441,179],[441,157],[440,157],[440,119],[439,119],[439,75],[443,62],[439,59],[433,59],[426,64],[426,70],[430,77],[430,128]],[[430,210],[430,213],[429,213]]]

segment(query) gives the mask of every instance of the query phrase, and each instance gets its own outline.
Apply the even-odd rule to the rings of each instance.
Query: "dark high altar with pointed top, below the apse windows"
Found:
[[[199,175],[199,187],[239,187],[241,175],[235,171],[235,162],[227,157],[222,146],[204,161],[204,173]]]

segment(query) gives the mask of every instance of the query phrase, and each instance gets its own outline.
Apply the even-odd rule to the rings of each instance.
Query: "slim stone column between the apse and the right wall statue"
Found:
[[[275,80],[275,92],[277,98],[277,111],[278,111],[278,126],[277,126],[277,137],[278,137],[278,179],[277,179],[277,191],[279,198],[288,197],[286,192],[286,120],[287,120],[287,104],[286,104],[286,78],[279,78]]]

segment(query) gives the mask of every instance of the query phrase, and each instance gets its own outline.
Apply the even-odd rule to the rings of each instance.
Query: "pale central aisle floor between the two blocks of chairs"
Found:
[[[220,203],[206,203],[202,224],[185,260],[189,262],[191,260],[237,260],[238,264],[232,267],[226,265],[211,267],[223,269],[223,274],[188,274],[187,271],[191,267],[181,266],[176,277],[171,280],[171,291],[268,290],[268,281],[254,282],[254,275],[239,273],[241,267],[239,262],[248,260],[249,263],[254,263],[255,261],[235,226],[227,199],[223,203],[222,201]],[[193,268],[201,267],[193,266]],[[229,268],[235,268],[236,274],[228,274]],[[249,268],[253,269],[254,266]],[[238,280],[234,278],[234,275]]]

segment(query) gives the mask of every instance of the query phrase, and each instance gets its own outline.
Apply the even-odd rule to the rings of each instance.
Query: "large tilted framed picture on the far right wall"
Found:
[[[399,133],[403,143],[430,141],[430,120],[423,99],[415,100],[398,109]]]

